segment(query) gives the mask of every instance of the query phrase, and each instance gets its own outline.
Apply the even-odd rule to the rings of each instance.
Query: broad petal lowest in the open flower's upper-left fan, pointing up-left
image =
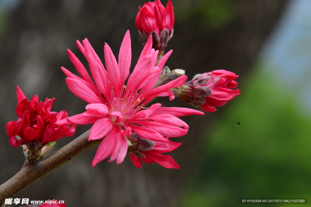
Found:
[[[81,81],[66,78],[66,83],[71,92],[88,103],[101,103],[100,99]]]

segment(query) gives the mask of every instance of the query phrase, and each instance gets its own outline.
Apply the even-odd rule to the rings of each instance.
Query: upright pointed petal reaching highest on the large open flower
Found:
[[[128,78],[131,66],[131,59],[132,59],[131,37],[130,31],[128,30],[126,31],[125,36],[123,38],[118,59],[118,66],[121,74],[120,77],[121,86],[123,86],[126,78]]]

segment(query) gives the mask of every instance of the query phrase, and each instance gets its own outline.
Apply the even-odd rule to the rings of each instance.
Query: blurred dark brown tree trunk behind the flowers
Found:
[[[183,0],[186,1],[186,0]],[[15,175],[25,158],[21,148],[8,143],[5,124],[17,120],[16,85],[27,98],[38,94],[40,100],[55,97],[53,111],[66,110],[69,115],[82,113],[86,102],[72,94],[66,86],[60,67],[75,72],[66,49],[86,64],[75,40],[88,38],[100,58],[107,42],[118,55],[126,30],[132,39],[132,67],[142,50],[134,21],[143,0],[24,0],[7,18],[0,45],[0,183]],[[166,5],[167,1],[162,3]],[[196,1],[193,1],[196,2]],[[276,26],[285,0],[230,1],[235,14],[227,23],[207,29],[199,16],[176,21],[174,37],[168,48],[174,52],[167,61],[169,68],[186,70],[189,79],[196,73],[225,69],[240,75],[240,81],[251,69],[263,43]],[[178,9],[180,2],[173,5]],[[176,17],[178,19],[178,17]],[[87,67],[86,67],[87,68]],[[241,81],[242,80],[242,81]],[[243,92],[242,92],[243,95]],[[242,96],[241,95],[241,96]],[[169,102],[158,99],[164,106],[192,107],[178,98]],[[234,100],[233,100],[234,101]],[[230,101],[229,103],[230,104]],[[199,162],[197,148],[212,115],[183,117],[190,126],[186,136],[172,139],[182,142],[170,153],[181,166],[166,169],[158,164],[145,164],[137,169],[127,155],[120,165],[107,160],[91,167],[97,147],[35,182],[14,198],[30,200],[64,200],[67,206],[178,206],[179,198],[194,175]],[[58,141],[60,148],[90,128],[78,126],[72,138]]]

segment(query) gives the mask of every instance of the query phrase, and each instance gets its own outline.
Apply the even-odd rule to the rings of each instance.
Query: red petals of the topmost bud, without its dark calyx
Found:
[[[173,31],[174,26],[174,10],[171,1],[167,2],[166,8],[161,4],[160,0],[145,3],[135,19],[135,24],[140,32],[150,34],[152,31],[160,36],[161,31],[165,28],[169,31],[169,35]]]

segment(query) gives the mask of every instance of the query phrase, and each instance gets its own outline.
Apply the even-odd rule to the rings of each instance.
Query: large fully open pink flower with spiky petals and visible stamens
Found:
[[[107,71],[87,39],[77,41],[78,48],[89,62],[95,84],[86,72],[81,62],[68,51],[69,57],[80,73],[81,78],[73,75],[65,68],[69,89],[89,104],[86,112],[67,120],[61,120],[58,125],[91,124],[89,140],[103,139],[98,147],[92,166],[110,156],[110,161],[123,162],[128,150],[128,137],[133,133],[156,142],[168,142],[168,137],[178,137],[187,134],[188,125],[176,116],[203,114],[200,111],[186,108],[165,108],[161,104],[144,108],[156,96],[174,94],[169,90],[183,85],[187,79],[181,76],[165,85],[153,88],[160,77],[161,70],[172,51],[169,51],[156,64],[158,51],[151,49],[152,36],[147,41],[138,59],[133,73],[129,76],[131,64],[131,40],[126,32],[118,57],[118,63],[110,47],[104,46]],[[123,86],[128,78],[127,86]],[[182,128],[181,128],[182,127]]]

